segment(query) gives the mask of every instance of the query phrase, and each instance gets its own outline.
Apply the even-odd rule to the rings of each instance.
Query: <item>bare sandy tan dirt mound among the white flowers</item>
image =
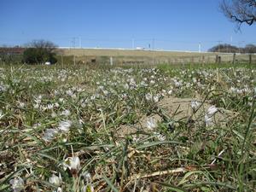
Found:
[[[191,102],[197,101],[200,106],[196,109],[191,108]],[[204,122],[205,114],[208,108],[212,105],[202,100],[195,98],[177,98],[172,96],[164,97],[160,102],[157,103],[158,108],[170,117],[174,122],[179,120],[188,121],[192,119],[193,122]],[[236,117],[236,113],[233,113],[224,108],[218,108],[218,112],[212,116],[212,125],[226,126],[229,121]],[[118,137],[125,137],[127,135],[137,132],[148,132],[152,131],[148,129],[148,120],[154,120],[156,124],[162,122],[163,118],[158,114],[143,116],[135,125],[121,125],[117,131]]]

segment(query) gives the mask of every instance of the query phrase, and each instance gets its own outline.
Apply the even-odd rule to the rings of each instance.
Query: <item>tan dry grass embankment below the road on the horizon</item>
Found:
[[[127,64],[138,61],[143,64],[159,63],[213,63],[216,61],[218,53],[197,53],[178,51],[152,51],[152,50],[132,50],[132,49],[59,49],[59,54],[75,55],[77,61],[90,61],[96,59],[97,62],[109,63],[109,57],[113,57],[114,64]],[[219,54],[221,61],[232,62],[233,54]],[[248,55],[236,55],[236,62],[249,61]],[[256,55],[252,61],[256,62]]]

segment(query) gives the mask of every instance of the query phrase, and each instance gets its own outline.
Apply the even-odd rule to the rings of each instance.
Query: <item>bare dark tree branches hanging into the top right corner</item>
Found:
[[[223,0],[220,9],[238,28],[242,23],[252,26],[256,22],[256,0]]]

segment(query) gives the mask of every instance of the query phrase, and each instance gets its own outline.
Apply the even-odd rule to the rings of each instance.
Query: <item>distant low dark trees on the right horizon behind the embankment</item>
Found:
[[[254,44],[247,44],[245,47],[236,47],[231,44],[217,44],[209,52],[219,52],[219,53],[256,53],[256,46]]]

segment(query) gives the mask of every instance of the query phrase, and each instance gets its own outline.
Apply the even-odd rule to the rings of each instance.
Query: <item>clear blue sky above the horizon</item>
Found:
[[[256,25],[241,26],[218,0],[1,0],[0,45],[47,39],[68,47],[207,50],[256,44]],[[74,40],[75,39],[75,40]],[[133,39],[133,40],[132,40]],[[154,39],[154,40],[153,40]],[[149,45],[150,44],[150,45]]]

